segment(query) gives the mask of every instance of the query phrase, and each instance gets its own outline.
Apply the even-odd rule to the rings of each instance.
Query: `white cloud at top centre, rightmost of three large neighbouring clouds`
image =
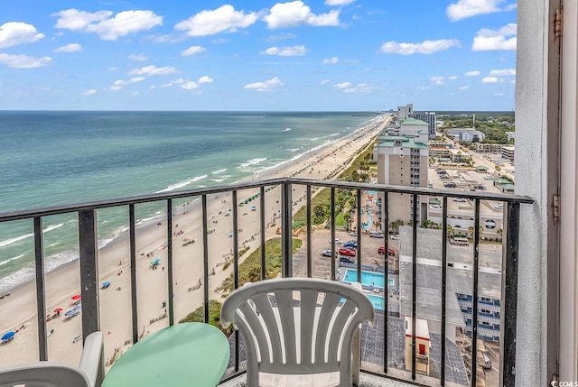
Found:
[[[331,10],[329,14],[313,14],[308,5],[305,5],[301,0],[296,0],[273,5],[263,20],[271,30],[297,27],[300,24],[335,26],[340,25],[340,11]]]

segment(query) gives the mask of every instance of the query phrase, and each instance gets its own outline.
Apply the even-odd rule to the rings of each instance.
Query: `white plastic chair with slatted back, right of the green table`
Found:
[[[374,317],[371,301],[355,286],[284,278],[233,291],[220,322],[233,322],[243,336],[247,386],[349,387],[353,337]]]

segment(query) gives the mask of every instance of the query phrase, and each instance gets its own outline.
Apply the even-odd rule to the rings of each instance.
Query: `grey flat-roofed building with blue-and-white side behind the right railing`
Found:
[[[416,317],[428,321],[432,332],[441,332],[442,239],[441,230],[418,228],[416,272]],[[399,286],[401,316],[412,315],[412,228],[399,230]],[[480,244],[478,278],[478,334],[499,340],[501,299],[501,246]],[[471,246],[448,245],[446,272],[446,334],[455,340],[456,328],[471,335],[473,294]]]

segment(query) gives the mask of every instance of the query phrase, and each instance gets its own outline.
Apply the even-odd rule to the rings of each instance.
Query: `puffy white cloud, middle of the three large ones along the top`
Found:
[[[232,5],[222,5],[214,11],[201,11],[189,19],[177,23],[176,30],[185,31],[189,36],[207,36],[219,32],[237,32],[256,22],[256,13],[245,14],[235,11]]]

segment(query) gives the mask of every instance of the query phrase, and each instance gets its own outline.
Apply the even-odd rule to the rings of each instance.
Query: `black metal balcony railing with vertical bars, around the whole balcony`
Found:
[[[313,245],[319,245],[315,243],[316,234],[320,234],[323,231],[316,231],[317,226],[313,225],[312,219],[316,211],[319,210],[319,205],[314,204],[314,195],[319,193],[321,189],[326,189],[329,195],[326,196],[326,203],[329,207],[329,212],[331,216],[329,221],[327,221],[326,226],[329,227],[330,231],[324,231],[330,234],[329,238],[324,238],[324,243],[327,244],[328,239],[335,241],[336,238],[341,235],[344,231],[338,230],[339,222],[343,219],[338,219],[340,216],[339,205],[338,205],[338,194],[348,193],[352,195],[348,201],[348,206],[350,206],[352,214],[355,216],[345,219],[347,221],[348,232],[351,229],[358,231],[355,237],[358,244],[357,256],[352,259],[354,263],[341,263],[340,259],[329,259],[325,258],[324,264],[328,265],[328,271],[320,274],[317,270],[317,264],[320,262],[317,257],[318,253],[313,253]],[[368,204],[362,202],[362,198],[367,198],[368,191],[371,191],[372,195],[375,191],[378,191],[378,197],[381,198],[381,214],[383,223],[382,225],[392,225],[395,223],[396,219],[389,217],[392,199],[398,194],[411,195],[413,202],[418,202],[419,197],[436,197],[441,200],[442,206],[442,216],[441,223],[437,226],[435,235],[439,235],[438,246],[441,248],[441,256],[435,257],[439,261],[439,275],[441,276],[441,288],[438,290],[438,296],[440,299],[439,309],[439,320],[436,320],[435,326],[438,328],[432,328],[432,333],[438,335],[435,340],[436,345],[439,345],[439,354],[437,358],[433,355],[430,358],[432,362],[431,368],[437,369],[435,375],[430,374],[422,375],[416,373],[416,365],[423,361],[419,355],[416,355],[416,343],[415,339],[417,333],[415,331],[416,319],[420,318],[421,304],[418,302],[418,298],[421,297],[420,289],[418,289],[418,263],[424,257],[418,256],[419,248],[418,246],[422,244],[420,241],[419,230],[423,225],[418,225],[417,223],[417,212],[413,213],[413,218],[409,219],[409,233],[410,236],[406,240],[402,239],[400,241],[401,246],[399,252],[396,252],[397,256],[390,257],[387,253],[383,255],[367,253],[367,248],[364,250],[362,247],[367,244],[383,243],[385,247],[385,252],[388,251],[391,244],[394,243],[393,240],[387,237],[384,239],[378,239],[377,241],[373,238],[368,238],[362,233],[362,230],[368,231],[369,229],[378,228],[375,224],[371,224],[371,217],[368,217],[368,210],[364,212],[364,208],[368,208]],[[247,193],[253,193],[253,195],[247,195]],[[174,212],[175,208],[181,208],[185,206],[182,204],[185,200],[190,203],[191,198],[198,198],[193,205],[195,210],[200,211],[201,222],[201,243],[202,243],[202,280],[199,281],[200,289],[202,290],[202,302],[200,307],[203,309],[203,319],[205,322],[210,321],[210,256],[211,251],[208,247],[209,235],[210,235],[210,204],[217,201],[219,198],[226,196],[230,199],[230,228],[236,230],[236,232],[231,232],[230,240],[227,241],[231,245],[231,253],[229,257],[228,270],[232,273],[233,287],[237,288],[239,286],[239,262],[240,262],[240,248],[244,245],[243,241],[240,240],[240,233],[237,232],[244,226],[244,216],[246,215],[251,204],[255,204],[251,210],[255,210],[258,213],[258,225],[257,231],[251,236],[253,241],[256,240],[258,247],[260,247],[260,271],[258,272],[258,278],[266,278],[266,235],[271,235],[271,229],[275,228],[277,230],[276,234],[281,235],[281,274],[284,277],[291,276],[318,276],[324,275],[328,279],[333,281],[341,280],[343,278],[338,278],[344,273],[340,271],[347,271],[348,268],[356,269],[355,280],[362,282],[362,272],[367,270],[372,270],[374,272],[384,272],[386,275],[386,285],[381,290],[375,283],[364,283],[364,289],[375,291],[377,294],[382,295],[383,305],[379,303],[380,309],[383,311],[378,312],[378,324],[377,326],[371,328],[371,335],[373,335],[372,342],[362,343],[362,351],[374,351],[371,354],[362,355],[362,371],[373,373],[375,375],[380,375],[385,378],[392,378],[404,382],[417,383],[418,385],[445,385],[446,382],[450,382],[450,385],[459,385],[459,381],[449,381],[446,370],[454,367],[455,364],[446,364],[446,355],[453,348],[453,344],[449,343],[448,337],[453,337],[454,332],[448,332],[447,329],[450,327],[450,322],[448,320],[448,305],[456,304],[458,299],[463,299],[464,294],[461,290],[459,292],[460,296],[455,297],[455,295],[450,296],[450,291],[447,289],[448,285],[448,267],[454,267],[453,263],[448,261],[449,249],[454,248],[449,244],[449,235],[451,234],[450,226],[448,225],[448,198],[469,198],[472,203],[472,217],[473,226],[471,227],[472,245],[468,247],[461,247],[465,249],[464,251],[471,253],[471,264],[469,264],[469,270],[471,272],[471,316],[474,321],[480,322],[479,307],[480,307],[480,297],[484,294],[480,294],[480,244],[484,241],[480,236],[481,225],[480,225],[480,210],[482,205],[486,200],[489,201],[500,201],[505,204],[503,210],[503,232],[500,236],[503,237],[501,255],[501,267],[499,268],[499,277],[501,279],[501,291],[499,295],[501,303],[501,330],[499,332],[500,342],[499,342],[499,353],[500,353],[500,376],[499,380],[501,385],[511,386],[514,385],[515,381],[515,370],[516,366],[516,341],[517,339],[530,339],[530,337],[517,337],[517,263],[518,263],[518,240],[520,233],[519,224],[519,210],[520,205],[532,203],[531,198],[520,197],[514,195],[503,195],[503,194],[489,194],[486,192],[465,192],[462,190],[439,190],[439,189],[421,189],[421,188],[405,188],[405,187],[394,187],[385,185],[375,185],[375,184],[361,184],[361,183],[351,183],[351,182],[341,182],[341,181],[328,181],[328,180],[303,180],[303,179],[293,179],[293,178],[280,178],[274,180],[260,180],[251,181],[247,183],[234,184],[226,187],[214,187],[206,189],[191,189],[186,191],[172,192],[172,193],[160,193],[153,195],[144,195],[134,198],[118,198],[112,200],[101,200],[96,202],[90,202],[79,205],[70,206],[60,206],[60,207],[47,207],[41,209],[33,210],[23,210],[16,211],[12,213],[0,214],[0,226],[6,222],[30,222],[33,227],[33,247],[34,247],[34,270],[35,270],[35,290],[36,290],[36,326],[38,328],[38,348],[40,360],[47,360],[49,358],[49,346],[48,338],[49,331],[47,329],[47,323],[45,316],[47,315],[48,306],[46,305],[46,281],[45,281],[45,257],[44,257],[44,245],[43,245],[43,219],[55,215],[62,214],[74,214],[78,217],[78,235],[79,235],[79,278],[80,278],[80,296],[82,299],[82,334],[88,336],[91,332],[102,330],[100,322],[100,310],[101,305],[99,305],[99,272],[98,272],[98,221],[97,213],[98,211],[107,210],[109,208],[122,208],[126,211],[128,230],[126,231],[127,243],[129,245],[129,260],[130,260],[130,305],[126,306],[130,309],[131,321],[132,321],[132,335],[130,340],[127,340],[127,345],[136,343],[139,338],[143,336],[140,333],[139,321],[142,325],[142,318],[139,320],[139,310],[137,296],[139,292],[137,291],[137,259],[138,255],[138,241],[137,241],[137,220],[136,220],[136,207],[141,205],[150,205],[152,203],[162,203],[164,208],[162,217],[162,222],[159,223],[164,226],[165,235],[165,251],[166,251],[166,271],[163,267],[163,273],[166,275],[166,293],[168,295],[174,294],[175,291],[175,281],[173,263],[175,257],[173,256],[173,246],[176,244]],[[242,198],[250,197],[251,203]],[[254,201],[253,201],[254,200]],[[266,218],[266,203],[274,203],[278,206],[278,211],[275,211],[275,216],[271,219]],[[247,204],[246,204],[247,203]],[[377,203],[377,201],[375,202]],[[305,208],[305,221],[302,223],[302,235],[304,239],[304,244],[300,252],[299,257],[296,258],[293,253],[293,233],[294,233],[294,214],[299,207]],[[500,210],[501,211],[501,210]],[[243,213],[243,215],[241,215]],[[375,211],[377,214],[377,211]],[[370,214],[369,214],[370,215]],[[366,222],[363,222],[363,218],[366,217]],[[155,220],[156,222],[156,220]],[[397,222],[397,226],[399,222]],[[388,230],[389,227],[386,229]],[[456,230],[456,227],[453,227]],[[390,230],[388,230],[390,231]],[[327,235],[326,234],[326,235]],[[362,237],[363,235],[363,237]],[[256,238],[255,238],[256,236]],[[402,235],[403,238],[404,235]],[[497,238],[496,238],[497,239]],[[247,240],[245,241],[247,242]],[[225,243],[225,241],[223,241]],[[397,243],[397,241],[396,241]],[[402,252],[403,250],[403,252]],[[331,243],[331,256],[337,256],[339,251],[339,246],[335,243]],[[404,255],[405,254],[405,255]],[[142,254],[141,254],[142,255]],[[378,258],[376,258],[376,255]],[[400,258],[404,255],[404,260],[402,262]],[[327,263],[330,261],[330,263]],[[428,263],[431,263],[428,261]],[[373,267],[377,263],[377,267]],[[406,264],[407,263],[407,264]],[[450,264],[449,264],[450,263]],[[400,268],[404,266],[406,269]],[[214,270],[214,268],[213,268]],[[406,270],[406,272],[404,272]],[[392,278],[390,274],[397,274],[398,281],[403,281],[403,285],[407,286],[408,291],[400,289],[400,284],[395,283],[390,285]],[[407,274],[407,275],[406,275]],[[403,278],[402,278],[403,277]],[[148,286],[148,284],[138,283],[138,287]],[[191,289],[190,289],[191,290]],[[456,290],[456,293],[458,291]],[[396,298],[397,296],[397,298]],[[453,297],[453,299],[448,299],[448,297]],[[397,304],[392,305],[392,304]],[[408,308],[404,309],[404,306]],[[175,324],[175,308],[174,299],[168,297],[167,304],[167,324]],[[409,309],[409,310],[408,310]],[[2,304],[0,304],[0,310],[2,310]],[[458,313],[460,313],[459,306],[457,307]],[[50,310],[49,310],[50,311]],[[403,335],[403,332],[397,332],[394,335],[392,327],[394,327],[397,322],[402,321],[401,318],[410,318],[412,321],[412,331],[409,336],[411,336],[411,356],[406,360],[406,366],[400,364],[396,360],[392,360],[392,354],[396,352],[396,339],[394,336],[407,336]],[[5,318],[5,317],[3,317]],[[403,321],[402,321],[403,322]],[[15,324],[15,322],[14,322]],[[452,326],[453,327],[453,326]],[[463,322],[462,327],[466,328],[466,323]],[[474,324],[473,327],[478,327],[478,324]],[[471,328],[471,325],[470,327]],[[369,329],[369,327],[364,327],[364,329]],[[437,332],[433,332],[437,330]],[[450,335],[448,335],[450,334]],[[377,337],[377,339],[376,339]],[[471,336],[468,340],[471,342],[469,348],[470,354],[476,354],[478,352],[478,328],[474,328],[471,332]],[[377,341],[375,341],[377,340]],[[403,341],[403,340],[402,340]],[[228,377],[232,377],[241,373],[242,371],[242,360],[244,356],[242,355],[242,350],[239,347],[239,338],[237,335],[233,335],[231,338],[232,352],[231,352],[231,364],[228,371]],[[105,342],[106,345],[106,342]],[[449,348],[448,346],[452,346]],[[7,351],[8,346],[0,348],[0,350]],[[403,352],[403,350],[402,350]],[[7,353],[7,352],[6,352]],[[375,355],[378,354],[378,355]],[[462,354],[463,355],[463,354]],[[6,359],[4,355],[1,356]],[[467,355],[464,355],[464,358]],[[477,370],[477,357],[471,356],[471,370]],[[32,360],[32,359],[31,359]],[[409,371],[406,371],[409,370]],[[477,372],[470,372],[469,382],[471,385],[476,385]]]

